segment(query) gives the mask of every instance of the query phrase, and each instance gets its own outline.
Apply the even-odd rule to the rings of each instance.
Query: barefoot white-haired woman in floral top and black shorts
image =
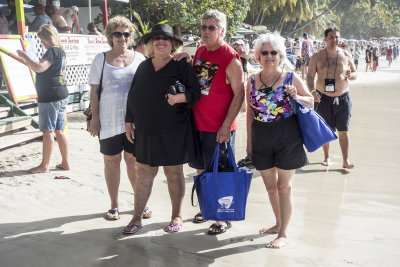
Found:
[[[267,247],[281,248],[288,243],[292,179],[295,170],[308,163],[289,96],[309,107],[313,97],[297,74],[285,71],[292,70],[293,65],[278,33],[256,40],[255,58],[263,69],[247,83],[247,153],[263,177],[276,219],[274,226],[260,233],[278,234]]]

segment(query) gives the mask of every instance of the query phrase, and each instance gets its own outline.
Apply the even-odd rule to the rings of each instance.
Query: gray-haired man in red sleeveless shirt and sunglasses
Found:
[[[216,142],[231,142],[234,149],[235,118],[244,99],[243,70],[239,55],[224,42],[226,16],[217,10],[208,10],[201,17],[200,46],[193,59],[193,68],[201,84],[200,100],[193,106],[197,133],[200,137],[201,157],[189,166],[200,173],[210,165]],[[190,56],[182,53],[176,60]],[[193,222],[204,222],[198,213]],[[217,235],[230,228],[230,222],[215,222],[208,234]]]

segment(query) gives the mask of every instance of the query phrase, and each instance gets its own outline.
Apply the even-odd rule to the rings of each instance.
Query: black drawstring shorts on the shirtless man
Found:
[[[349,93],[338,97],[321,94],[321,102],[315,111],[336,131],[348,131],[351,117],[351,100]]]

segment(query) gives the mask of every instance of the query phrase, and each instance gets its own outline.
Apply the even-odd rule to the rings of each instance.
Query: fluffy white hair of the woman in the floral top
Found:
[[[285,39],[278,32],[262,34],[254,41],[254,56],[258,62],[260,62],[261,48],[264,44],[270,44],[278,51],[281,58],[281,67],[285,65],[289,70],[294,69],[293,64],[290,63],[286,56]]]

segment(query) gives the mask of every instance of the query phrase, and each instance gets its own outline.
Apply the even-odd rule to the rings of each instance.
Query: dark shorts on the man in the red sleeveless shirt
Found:
[[[217,133],[216,132],[202,132],[196,131],[200,140],[201,153],[196,157],[196,160],[189,162],[189,166],[197,170],[205,170],[210,166],[212,157],[214,155],[215,147],[217,145]],[[236,131],[231,131],[231,147],[233,153],[235,153],[235,136]],[[220,161],[224,162],[226,158],[227,150],[224,146],[220,145]]]

